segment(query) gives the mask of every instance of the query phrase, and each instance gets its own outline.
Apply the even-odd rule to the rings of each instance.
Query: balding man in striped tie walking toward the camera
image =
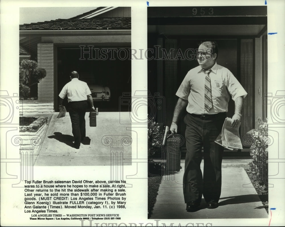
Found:
[[[218,46],[214,41],[203,41],[197,51],[199,66],[191,69],[182,81],[176,95],[170,131],[177,131],[180,113],[186,109],[184,201],[186,210],[199,210],[202,195],[207,208],[218,207],[221,196],[221,166],[223,147],[215,143],[221,132],[228,110],[230,96],[235,102],[231,125],[241,121],[243,99],[247,92],[225,67],[217,64]],[[200,168],[204,148],[204,171]]]

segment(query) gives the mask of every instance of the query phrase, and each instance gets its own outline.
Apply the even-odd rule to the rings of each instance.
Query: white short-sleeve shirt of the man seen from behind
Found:
[[[87,95],[90,94],[91,91],[86,82],[73,78],[62,88],[58,96],[64,99],[67,95],[68,102],[75,102],[87,100]]]

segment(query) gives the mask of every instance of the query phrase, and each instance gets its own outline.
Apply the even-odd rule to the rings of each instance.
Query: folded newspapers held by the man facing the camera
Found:
[[[229,150],[243,149],[239,135],[239,126],[241,123],[239,123],[236,127],[231,127],[231,120],[232,119],[229,117],[225,119],[222,131],[215,142]]]

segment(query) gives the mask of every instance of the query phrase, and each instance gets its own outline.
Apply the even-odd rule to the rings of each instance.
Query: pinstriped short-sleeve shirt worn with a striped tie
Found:
[[[233,101],[237,97],[245,98],[247,95],[239,81],[227,68],[215,63],[209,76],[213,102],[213,107],[209,111],[206,111],[204,107],[206,74],[201,66],[191,69],[178,88],[176,95],[188,100],[186,107],[188,113],[215,114],[227,112],[230,95]]]

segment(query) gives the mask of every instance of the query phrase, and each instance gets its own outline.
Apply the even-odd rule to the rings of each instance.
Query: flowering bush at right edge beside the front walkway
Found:
[[[253,129],[251,136],[253,144],[250,147],[250,155],[252,161],[251,171],[253,174],[253,181],[268,184],[268,124],[257,117],[258,128]]]

